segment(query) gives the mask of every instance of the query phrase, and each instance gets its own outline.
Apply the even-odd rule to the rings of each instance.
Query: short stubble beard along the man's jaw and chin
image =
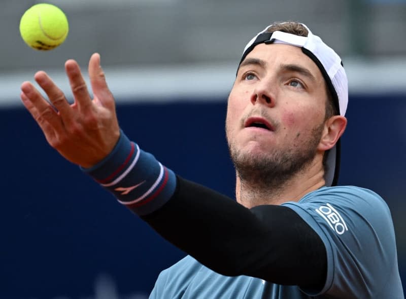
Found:
[[[227,134],[228,150],[241,186],[258,193],[278,193],[278,189],[312,163],[322,132],[323,124],[312,130],[306,142],[274,148],[262,155],[253,155],[236,148]]]

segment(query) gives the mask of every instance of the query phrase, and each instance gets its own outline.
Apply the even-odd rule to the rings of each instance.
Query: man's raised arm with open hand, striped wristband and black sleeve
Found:
[[[114,98],[98,54],[89,61],[93,99],[79,65],[68,60],[65,70],[73,104],[43,71],[35,79],[50,103],[31,83],[21,86],[25,107],[65,159],[89,170],[159,234],[219,273],[301,286],[323,284],[324,245],[295,212],[280,206],[249,210],[210,189],[177,180],[152,155],[120,138]]]

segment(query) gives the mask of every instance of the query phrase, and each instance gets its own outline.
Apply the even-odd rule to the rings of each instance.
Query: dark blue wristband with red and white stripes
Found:
[[[121,131],[113,151],[91,168],[81,168],[138,215],[163,206],[174,194],[175,173],[131,142]]]

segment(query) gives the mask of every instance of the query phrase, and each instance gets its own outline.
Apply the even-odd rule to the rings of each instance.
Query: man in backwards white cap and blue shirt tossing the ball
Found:
[[[151,298],[403,298],[387,205],[334,186],[347,77],[309,28],[275,23],[244,50],[226,118],[238,203],[128,140],[99,59],[89,61],[94,99],[74,60],[74,104],[43,71],[35,80],[56,110],[29,82],[21,99],[64,158],[190,254],[159,275]]]

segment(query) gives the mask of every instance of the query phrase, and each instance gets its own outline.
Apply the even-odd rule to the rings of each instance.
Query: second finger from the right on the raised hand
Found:
[[[78,63],[73,59],[67,60],[65,62],[65,70],[79,110],[88,110],[92,106],[92,100]]]

